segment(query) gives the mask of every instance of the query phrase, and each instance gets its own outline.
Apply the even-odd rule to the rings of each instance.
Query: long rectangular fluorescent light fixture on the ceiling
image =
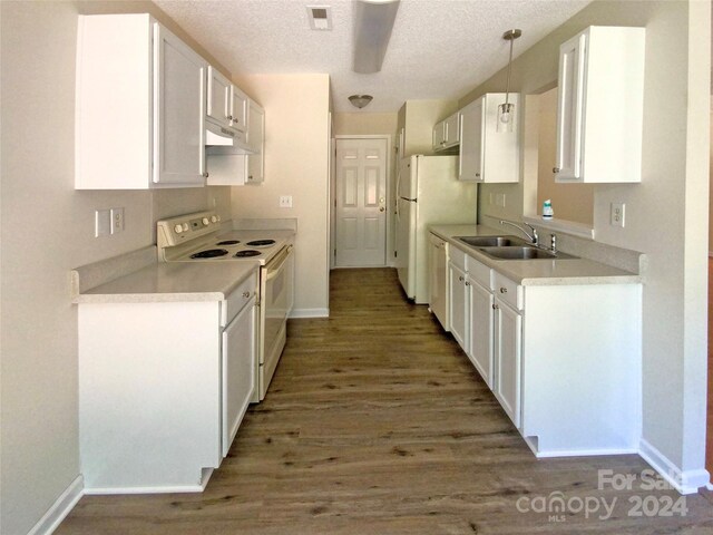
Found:
[[[399,0],[356,0],[354,2],[354,72],[381,70],[391,38]]]

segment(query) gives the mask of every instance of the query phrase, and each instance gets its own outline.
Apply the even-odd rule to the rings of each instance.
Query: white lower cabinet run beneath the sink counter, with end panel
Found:
[[[641,284],[521,285],[459,254],[451,332],[535,455],[636,451]]]

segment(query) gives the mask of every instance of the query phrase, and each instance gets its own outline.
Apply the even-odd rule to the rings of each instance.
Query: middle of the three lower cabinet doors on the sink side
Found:
[[[468,357],[492,390],[492,311],[495,299],[490,290],[470,280],[470,351]]]

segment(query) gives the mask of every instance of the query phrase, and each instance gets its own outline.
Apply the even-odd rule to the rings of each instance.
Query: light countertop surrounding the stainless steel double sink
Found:
[[[636,273],[587,259],[495,260],[458,240],[458,236],[517,235],[509,230],[484,225],[433,225],[429,231],[479,262],[525,286],[576,284],[634,284],[642,282]]]

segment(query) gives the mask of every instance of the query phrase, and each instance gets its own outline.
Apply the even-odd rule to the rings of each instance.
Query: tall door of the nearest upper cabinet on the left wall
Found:
[[[154,23],[154,173],[158,186],[205,181],[206,64],[166,28]]]

